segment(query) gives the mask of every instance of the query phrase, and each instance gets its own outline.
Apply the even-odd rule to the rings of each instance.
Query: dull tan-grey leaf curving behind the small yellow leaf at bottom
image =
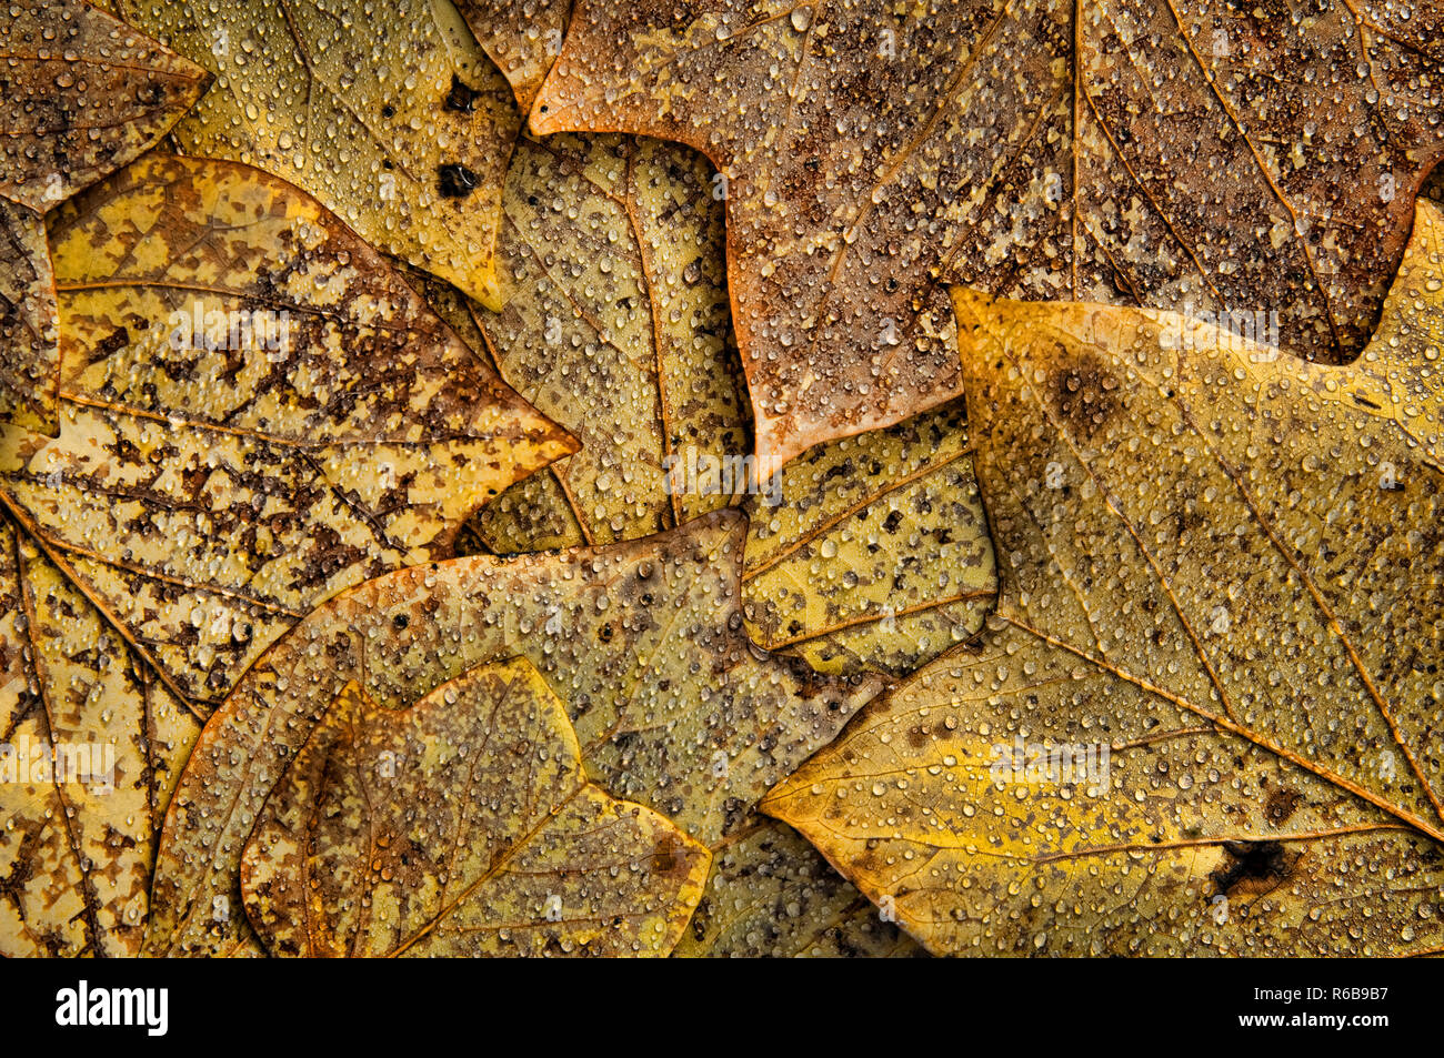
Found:
[[[526,657],[566,703],[586,775],[709,844],[879,690],[748,642],[745,520],[732,511],[601,548],[417,566],[326,602],[211,717],[166,816],[147,947],[215,953],[266,798],[355,683],[401,709],[479,665]]]

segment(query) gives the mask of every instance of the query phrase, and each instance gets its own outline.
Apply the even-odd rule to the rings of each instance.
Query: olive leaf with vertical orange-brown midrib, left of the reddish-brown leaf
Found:
[[[492,551],[637,540],[731,502],[689,482],[749,447],[710,166],[657,140],[523,140],[507,178],[507,307],[474,328],[498,374],[582,450],[504,494]],[[475,338],[472,341],[477,341]]]

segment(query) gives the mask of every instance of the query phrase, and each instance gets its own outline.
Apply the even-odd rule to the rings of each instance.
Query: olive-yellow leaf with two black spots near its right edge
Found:
[[[451,0],[121,0],[215,74],[175,137],[292,180],[381,250],[494,307],[521,118]]]

